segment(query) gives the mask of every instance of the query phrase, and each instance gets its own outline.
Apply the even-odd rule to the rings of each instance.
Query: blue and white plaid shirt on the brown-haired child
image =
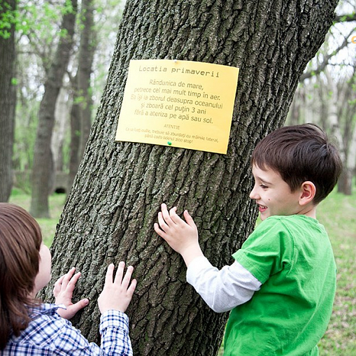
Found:
[[[31,322],[19,337],[10,336],[1,356],[132,355],[129,318],[120,311],[107,311],[100,318],[101,347],[89,343],[71,322],[61,318],[55,304],[31,310]]]

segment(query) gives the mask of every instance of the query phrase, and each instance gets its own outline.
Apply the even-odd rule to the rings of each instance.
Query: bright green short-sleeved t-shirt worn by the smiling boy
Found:
[[[233,257],[262,286],[230,313],[224,356],[318,355],[336,290],[325,228],[305,215],[271,216]]]

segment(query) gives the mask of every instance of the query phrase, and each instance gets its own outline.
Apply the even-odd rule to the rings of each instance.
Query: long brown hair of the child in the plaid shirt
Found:
[[[41,229],[27,211],[0,203],[0,350],[29,324],[41,243]]]

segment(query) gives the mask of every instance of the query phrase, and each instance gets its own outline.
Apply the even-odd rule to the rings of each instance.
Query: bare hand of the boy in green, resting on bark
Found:
[[[161,210],[158,213],[158,224],[155,223],[155,232],[182,255],[187,266],[193,259],[204,257],[198,241],[197,226],[189,213],[184,211],[184,221],[176,213],[176,206],[168,211],[166,204],[162,204]]]

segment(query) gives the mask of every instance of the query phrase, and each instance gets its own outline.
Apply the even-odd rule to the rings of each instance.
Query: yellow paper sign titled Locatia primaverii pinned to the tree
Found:
[[[238,68],[131,60],[116,141],[226,153]]]

